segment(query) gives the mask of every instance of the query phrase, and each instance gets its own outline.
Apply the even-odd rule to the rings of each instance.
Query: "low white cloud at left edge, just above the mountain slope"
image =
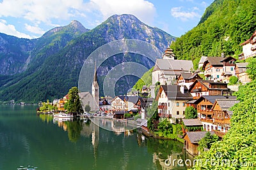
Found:
[[[0,20],[0,32],[3,32],[4,34],[12,35],[12,36],[17,36],[18,38],[31,39],[31,36],[17,31],[14,25],[10,25],[10,24],[8,25],[6,20]]]

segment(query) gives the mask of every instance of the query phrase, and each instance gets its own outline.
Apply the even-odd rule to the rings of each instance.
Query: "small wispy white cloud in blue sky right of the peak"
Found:
[[[174,7],[171,9],[171,15],[175,18],[179,18],[182,21],[187,21],[189,19],[193,19],[193,18],[200,18],[200,15],[198,13],[196,13],[195,9],[192,9],[191,11],[182,11],[183,8],[180,7]],[[196,9],[197,10],[197,9]]]

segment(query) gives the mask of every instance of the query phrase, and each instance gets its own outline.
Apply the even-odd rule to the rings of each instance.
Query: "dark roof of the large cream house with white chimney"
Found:
[[[186,86],[184,86],[184,93],[180,92],[180,85],[161,85],[163,88],[166,96],[170,100],[192,100],[193,96],[189,93],[186,92],[188,89]]]

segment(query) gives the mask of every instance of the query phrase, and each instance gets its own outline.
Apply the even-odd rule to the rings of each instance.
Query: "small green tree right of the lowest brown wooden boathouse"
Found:
[[[211,134],[210,132],[207,132],[205,134],[205,137],[202,138],[198,143],[198,150],[200,152],[204,151],[204,148],[210,149],[212,143],[218,141],[219,137],[216,134]]]

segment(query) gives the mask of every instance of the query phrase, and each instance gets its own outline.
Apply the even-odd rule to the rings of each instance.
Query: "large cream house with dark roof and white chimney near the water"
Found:
[[[186,101],[192,99],[193,97],[184,86],[161,85],[156,96],[158,113],[160,117],[174,118],[174,120],[184,118]]]

